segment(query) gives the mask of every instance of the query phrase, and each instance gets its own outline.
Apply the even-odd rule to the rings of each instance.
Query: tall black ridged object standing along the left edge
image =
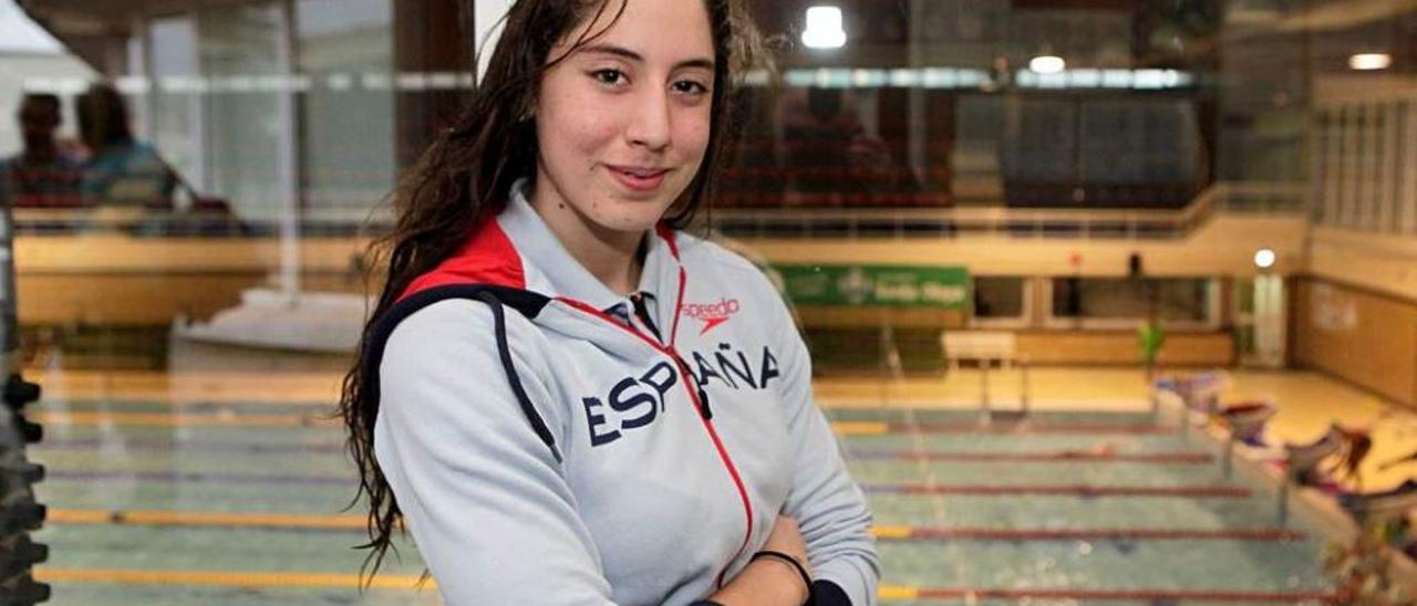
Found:
[[[20,331],[16,319],[14,222],[0,195],[0,343],[3,351],[4,412],[0,412],[0,606],[26,606],[50,599],[50,586],[34,581],[34,565],[48,559],[48,548],[30,539],[44,524],[45,508],[34,498],[44,467],[31,463],[26,446],[44,436],[24,416],[40,399],[40,387],[20,377]]]

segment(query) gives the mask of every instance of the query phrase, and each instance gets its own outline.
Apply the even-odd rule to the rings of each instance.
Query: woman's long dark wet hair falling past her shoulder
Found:
[[[543,74],[605,30],[587,31],[570,50],[551,50],[584,23],[614,10],[615,20],[632,0],[519,0],[507,13],[487,71],[468,106],[439,132],[394,194],[393,231],[371,245],[374,269],[384,270],[378,303],[364,326],[353,370],[344,377],[339,413],[349,429],[349,453],[359,467],[354,504],[368,498],[370,549],[363,572],[371,579],[391,547],[402,514],[374,457],[378,394],[368,394],[377,365],[363,362],[371,328],[418,276],[432,270],[466,241],[472,229],[506,202],[512,184],[536,173],[536,106]],[[740,0],[704,0],[714,41],[713,118],[703,164],[666,221],[686,227],[704,204],[716,166],[734,122],[733,89],[747,67],[758,62],[760,42]],[[614,20],[611,21],[614,24]],[[606,25],[609,27],[609,25]]]

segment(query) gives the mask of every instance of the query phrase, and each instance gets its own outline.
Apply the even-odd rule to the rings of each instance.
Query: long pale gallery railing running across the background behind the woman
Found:
[[[880,239],[989,235],[1036,239],[1180,239],[1216,212],[1302,214],[1304,183],[1223,181],[1176,210],[969,208],[721,208],[704,214],[734,238]],[[17,208],[20,234],[126,232],[145,236],[275,236],[276,221],[221,212],[142,208]],[[356,218],[357,217],[357,218]],[[388,217],[306,212],[299,232],[351,236],[378,232]]]

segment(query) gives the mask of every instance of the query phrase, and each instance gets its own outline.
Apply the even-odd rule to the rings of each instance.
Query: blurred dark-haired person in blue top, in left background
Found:
[[[85,204],[170,211],[177,176],[156,150],[133,139],[118,91],[95,84],[77,105],[79,135],[89,149],[81,184]]]

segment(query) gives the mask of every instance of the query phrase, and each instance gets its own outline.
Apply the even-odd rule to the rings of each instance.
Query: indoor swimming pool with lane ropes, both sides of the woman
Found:
[[[353,589],[363,521],[319,404],[48,401],[33,459],[57,605],[436,603],[408,542]],[[1274,491],[1149,415],[965,411],[829,416],[877,522],[891,603],[1305,603],[1323,538]]]

